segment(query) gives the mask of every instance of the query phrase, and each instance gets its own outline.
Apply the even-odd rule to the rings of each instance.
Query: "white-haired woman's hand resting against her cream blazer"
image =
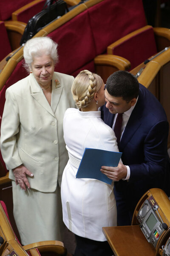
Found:
[[[26,175],[30,177],[33,177],[34,175],[30,171],[28,171],[28,169],[25,166],[20,165],[14,168],[13,173],[15,176],[15,183],[19,184],[21,189],[24,189],[26,191],[26,187],[28,187],[28,189],[30,188],[30,184],[28,182]]]

